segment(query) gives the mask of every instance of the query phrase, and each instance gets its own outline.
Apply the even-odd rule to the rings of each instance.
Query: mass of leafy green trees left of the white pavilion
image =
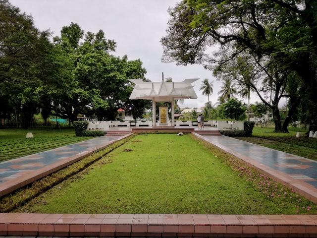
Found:
[[[51,115],[70,125],[78,114],[113,120],[122,107],[137,118],[150,107],[129,99],[128,79],[145,79],[142,61],[111,55],[116,43],[102,30],[84,37],[72,22],[52,43],[50,32],[39,31],[32,16],[7,0],[0,0],[0,22],[0,118],[27,128],[41,111],[45,125]]]

